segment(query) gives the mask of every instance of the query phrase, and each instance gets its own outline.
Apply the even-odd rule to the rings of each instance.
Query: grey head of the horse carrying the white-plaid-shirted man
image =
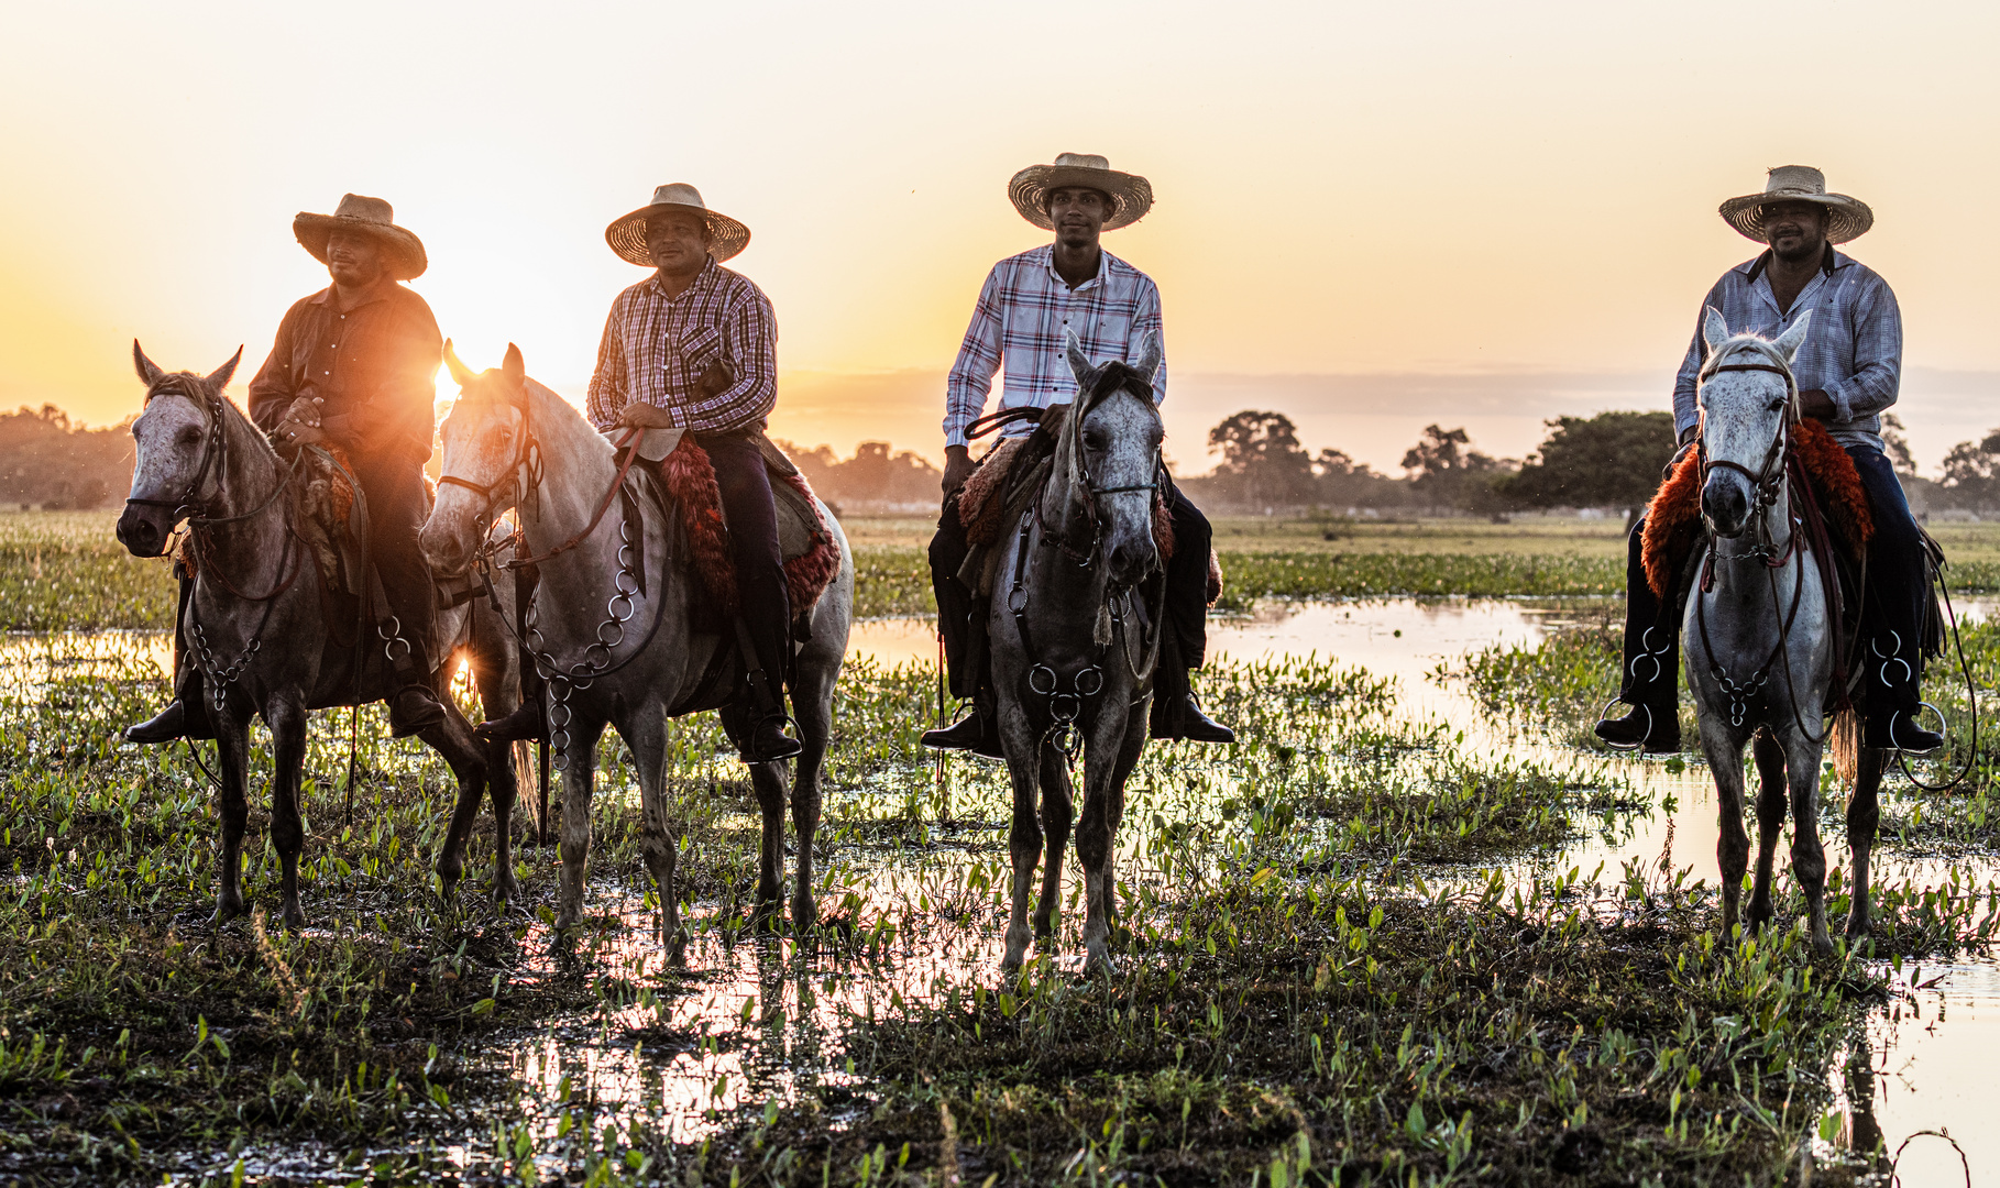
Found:
[[[1092,524],[1110,580],[1132,586],[1160,564],[1152,536],[1160,442],[1166,438],[1152,400],[1160,340],[1148,338],[1136,364],[1090,366],[1076,334],[1068,336],[1064,354],[1076,372],[1076,404],[1062,428],[1056,474],[1070,488],[1070,506]]]

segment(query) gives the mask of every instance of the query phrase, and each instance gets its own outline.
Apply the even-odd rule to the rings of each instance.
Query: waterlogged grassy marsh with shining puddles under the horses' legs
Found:
[[[818,932],[744,928],[740,766],[706,716],[678,732],[680,966],[654,934],[620,744],[592,914],[564,948],[552,850],[522,850],[514,908],[482,900],[490,842],[464,898],[428,894],[442,764],[370,714],[356,788],[348,718],[314,724],[310,926],[214,934],[200,774],[182,748],[108,740],[162,694],[164,638],[10,636],[0,894],[30,972],[6,992],[50,1006],[0,1030],[18,1106],[0,1182],[1888,1182],[1904,1144],[1906,1184],[1962,1182],[1960,1156],[2000,1182],[1984,794],[1948,826],[1938,798],[1894,794],[1868,950],[1812,962],[1784,876],[1780,930],[1732,948],[1698,756],[1584,750],[1482,684],[1614,610],[1262,602],[1218,620],[1202,694],[1246,744],[1154,748],[1134,776],[1106,982],[1078,974],[1078,880],[1058,944],[1020,982],[996,972],[1004,770],[916,746],[938,712],[922,620],[856,630]],[[98,818],[120,814],[146,844],[110,840]],[[270,878],[252,850],[252,898]],[[116,928],[142,934],[124,956]],[[102,976],[50,964],[86,952]],[[120,982],[120,962],[158,968]],[[138,1006],[174,978],[196,1018]],[[216,1108],[180,1118],[148,1094]]]

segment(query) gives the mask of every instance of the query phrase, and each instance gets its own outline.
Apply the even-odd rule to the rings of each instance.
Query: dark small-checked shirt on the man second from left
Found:
[[[610,430],[618,410],[644,400],[698,434],[764,428],[778,404],[776,348],[778,318],[750,278],[710,256],[694,284],[670,298],[656,272],[612,302],[584,412]],[[716,368],[718,382],[702,384],[716,364],[732,366],[736,378]]]

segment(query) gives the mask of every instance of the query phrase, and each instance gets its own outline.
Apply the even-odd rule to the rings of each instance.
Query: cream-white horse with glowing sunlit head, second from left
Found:
[[[664,798],[668,718],[726,700],[726,690],[742,676],[740,662],[720,654],[734,640],[696,630],[706,586],[688,568],[684,534],[670,520],[678,512],[640,494],[638,476],[628,474],[630,454],[620,464],[620,450],[568,400],[530,380],[514,344],[500,368],[480,374],[466,368],[450,344],[444,358],[460,398],[444,420],[444,478],[420,544],[426,560],[444,572],[490,562],[490,556],[476,556],[474,546],[484,526],[512,508],[520,548],[534,554],[540,584],[528,606],[524,646],[546,678],[544,718],[562,764],[558,938],[582,920],[596,744],[604,728],[614,726],[638,770],[640,854],[660,886],[660,940],[678,954],[686,936],[674,890],[678,834]],[[622,522],[600,526],[620,492],[632,496]],[[798,652],[792,690],[804,748],[796,760],[786,760],[798,764],[790,788],[798,830],[796,930],[818,922],[812,840],[820,826],[820,766],[832,738],[834,682],[854,622],[854,554],[824,502],[818,510],[840,548],[840,570],[812,610],[812,640]],[[630,522],[634,512],[638,524]],[[664,558],[664,564],[640,558]],[[524,560],[516,556],[516,564]],[[726,660],[730,670],[712,674],[712,660]],[[704,696],[718,688],[722,696]],[[770,924],[784,896],[782,762],[752,764],[750,782],[764,818],[752,922]]]

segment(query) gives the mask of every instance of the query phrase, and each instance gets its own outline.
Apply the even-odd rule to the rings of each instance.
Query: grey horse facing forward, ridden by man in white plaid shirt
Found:
[[[1092,366],[1070,334],[1064,356],[1076,374],[1076,402],[1058,430],[1048,480],[996,544],[994,590],[1006,594],[988,608],[1000,748],[1014,784],[1012,916],[1002,970],[1018,970],[1032,936],[1056,930],[1076,750],[1084,754],[1076,858],[1084,866],[1086,966],[1114,968],[1112,852],[1124,784],[1148,738],[1160,656],[1164,580],[1154,582],[1150,602],[1140,590],[1162,570],[1154,500],[1166,474],[1166,428],[1152,400],[1160,346],[1148,340],[1138,364]],[[1044,838],[1042,896],[1030,934],[1028,884],[1044,858]]]

